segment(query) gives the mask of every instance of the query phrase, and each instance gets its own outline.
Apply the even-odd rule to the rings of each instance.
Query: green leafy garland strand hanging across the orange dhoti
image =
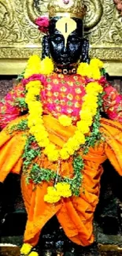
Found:
[[[28,150],[28,145],[27,145]],[[34,152],[33,152],[34,153]],[[26,159],[26,162],[24,163],[24,169],[27,168],[28,165],[31,165],[31,160],[35,158],[35,154],[29,154],[28,152],[24,152],[24,158]],[[30,156],[33,158],[30,158]],[[72,179],[63,177],[61,175],[58,175],[51,169],[44,169],[40,168],[38,164],[34,163],[31,166],[30,173],[26,173],[26,181],[27,183],[30,182],[30,180],[33,180],[34,184],[40,184],[42,181],[50,182],[57,179],[57,182],[66,182],[70,184],[72,195],[79,195],[79,187],[81,187],[81,181],[82,181],[82,169],[83,169],[83,159],[77,155],[74,156],[73,161],[73,168],[74,168],[74,177]]]

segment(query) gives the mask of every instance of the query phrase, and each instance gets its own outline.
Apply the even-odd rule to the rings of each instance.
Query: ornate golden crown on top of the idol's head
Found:
[[[83,0],[52,0],[48,5],[49,17],[70,17],[83,19],[86,6]]]

